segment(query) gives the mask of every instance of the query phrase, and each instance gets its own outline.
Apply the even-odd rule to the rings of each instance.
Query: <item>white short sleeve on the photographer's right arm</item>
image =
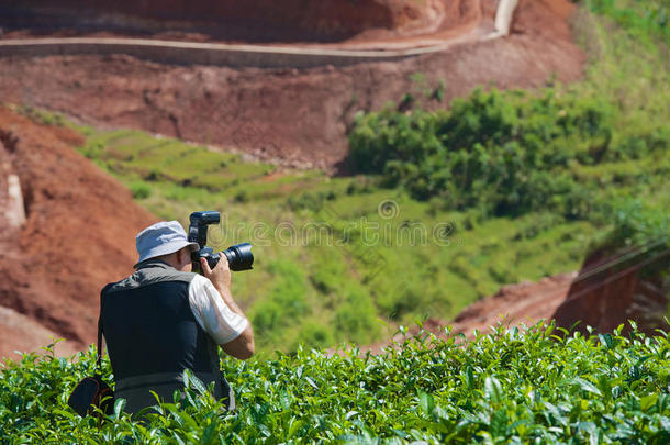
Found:
[[[189,303],[200,327],[217,345],[237,338],[248,324],[247,319],[228,308],[212,281],[202,275],[196,275],[189,286]]]

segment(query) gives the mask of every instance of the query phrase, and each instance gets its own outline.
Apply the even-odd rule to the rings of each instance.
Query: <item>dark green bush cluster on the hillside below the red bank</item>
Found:
[[[387,186],[420,200],[440,197],[447,209],[551,210],[579,219],[594,209],[595,185],[578,180],[576,165],[668,148],[666,137],[613,143],[615,115],[602,100],[555,89],[541,96],[477,89],[449,111],[359,116],[350,156],[360,171],[381,174]]]

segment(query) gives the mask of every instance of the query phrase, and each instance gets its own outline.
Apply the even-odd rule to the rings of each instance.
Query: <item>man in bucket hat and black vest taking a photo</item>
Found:
[[[101,292],[116,397],[126,399],[131,413],[156,404],[149,391],[172,402],[188,368],[206,387],[213,382],[214,397],[227,399],[234,409],[217,345],[247,359],[254,354],[254,333],[233,300],[226,257],[222,255],[213,269],[200,258],[203,275],[191,272],[191,253],[199,246],[187,240],[177,221],[150,225],[137,234],[136,245],[136,271]]]

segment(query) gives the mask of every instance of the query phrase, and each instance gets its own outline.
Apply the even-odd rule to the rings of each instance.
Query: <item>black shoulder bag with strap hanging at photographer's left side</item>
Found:
[[[94,408],[104,414],[111,414],[114,409],[114,391],[102,381],[102,296],[100,296],[100,316],[98,318],[98,359],[96,360],[96,375],[81,380],[76,387],[67,404],[82,418],[96,414]]]

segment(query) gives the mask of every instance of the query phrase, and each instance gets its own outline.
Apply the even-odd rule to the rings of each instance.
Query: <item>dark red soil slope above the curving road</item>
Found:
[[[479,0],[10,0],[5,26],[155,33],[181,31],[247,42],[334,41],[460,24]]]

